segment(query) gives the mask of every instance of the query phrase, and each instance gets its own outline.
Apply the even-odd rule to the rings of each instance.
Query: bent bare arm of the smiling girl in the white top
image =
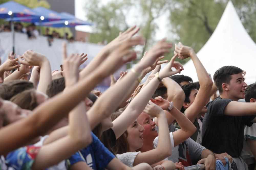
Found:
[[[133,165],[137,165],[142,162],[153,165],[159,161],[162,161],[163,159],[167,158],[172,154],[172,145],[169,135],[169,128],[163,109],[154,104],[152,101],[149,101],[143,112],[149,114],[151,117],[158,118],[158,143],[156,149],[138,153],[134,160]]]

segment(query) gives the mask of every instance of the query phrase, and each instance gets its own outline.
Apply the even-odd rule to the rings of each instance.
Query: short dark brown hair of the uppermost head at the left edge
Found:
[[[35,88],[33,83],[26,80],[13,80],[0,86],[0,96],[4,100],[10,100],[18,93]]]

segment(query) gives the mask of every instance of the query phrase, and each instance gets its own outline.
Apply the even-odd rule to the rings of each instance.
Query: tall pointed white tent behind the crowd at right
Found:
[[[236,66],[246,71],[245,82],[256,81],[256,44],[244,29],[231,1],[207,43],[197,53],[208,73],[213,77],[222,66]],[[198,81],[190,59],[181,74]]]

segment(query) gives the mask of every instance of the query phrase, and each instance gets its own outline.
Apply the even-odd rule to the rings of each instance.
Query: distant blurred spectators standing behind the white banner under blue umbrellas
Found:
[[[10,32],[11,31],[11,24],[10,22],[8,24],[2,24],[0,27],[0,32]],[[28,35],[29,39],[37,38],[40,34],[39,30],[36,28],[36,25],[34,23],[31,23],[27,25],[26,27],[23,26],[20,22],[14,23],[14,31],[20,32],[20,33],[26,33]],[[49,28],[47,27],[45,29],[44,36],[48,37],[48,41],[52,42],[54,41],[54,38],[63,39],[63,36],[60,36],[60,33],[58,33],[56,30],[53,30],[50,33]],[[65,33],[66,40],[69,40],[69,42],[74,42],[74,37],[69,37],[68,33]]]

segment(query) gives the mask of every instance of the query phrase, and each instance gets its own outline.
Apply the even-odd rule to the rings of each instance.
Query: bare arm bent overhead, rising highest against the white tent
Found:
[[[182,43],[179,43],[180,47],[175,45],[175,51],[178,53],[179,58],[185,59],[190,57],[194,63],[196,68],[197,77],[199,80],[200,88],[196,95],[194,102],[190,107],[186,109],[187,118],[194,123],[198,114],[202,110],[202,108],[206,105],[207,100],[209,99],[209,95],[211,93],[212,88],[212,80],[210,79],[209,74],[205,70],[201,61],[196,56],[193,48],[184,46]]]

